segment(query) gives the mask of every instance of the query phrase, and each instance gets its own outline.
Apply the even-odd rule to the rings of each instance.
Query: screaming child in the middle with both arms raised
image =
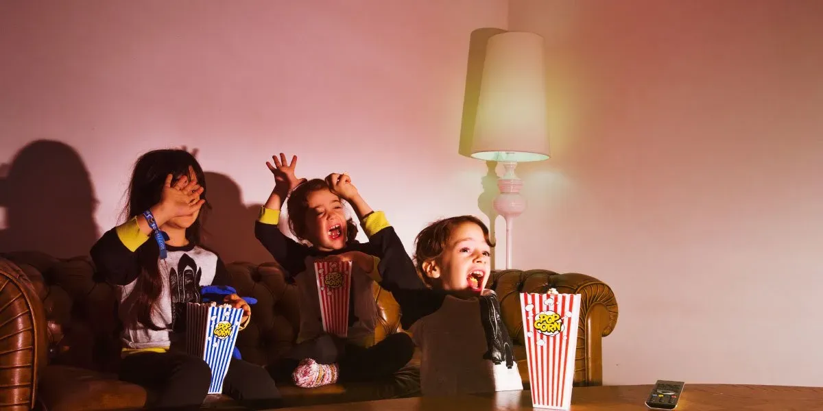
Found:
[[[291,164],[282,153],[280,159],[272,159],[274,164],[267,166],[274,174],[275,187],[254,232],[286,276],[295,281],[300,301],[298,344],[272,367],[272,373],[291,373],[295,385],[305,388],[332,384],[338,379],[362,381],[392,375],[412,358],[414,343],[407,334],[396,333],[374,344],[377,307],[372,285],[377,281],[389,291],[422,287],[400,238],[385,215],[366,204],[346,174],[332,173],[325,181],[305,181],[295,177],[297,156]],[[286,196],[291,231],[310,245],[295,242],[277,227]],[[356,241],[357,226],[346,218],[342,201],[354,208],[369,242]],[[374,256],[379,257],[379,264]],[[346,341],[323,332],[314,262],[324,259],[353,263]]]

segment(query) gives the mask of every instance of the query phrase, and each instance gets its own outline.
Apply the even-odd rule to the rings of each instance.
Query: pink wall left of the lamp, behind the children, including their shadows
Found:
[[[350,173],[407,247],[430,220],[477,212],[486,165],[458,155],[468,46],[505,26],[507,3],[345,3],[4,2],[0,164],[36,177],[2,182],[0,250],[87,252],[117,221],[137,155],[171,145],[219,174],[207,228],[229,261],[270,258],[253,219],[280,151],[307,177]],[[68,146],[14,164],[40,139]],[[77,194],[45,195],[61,177]]]

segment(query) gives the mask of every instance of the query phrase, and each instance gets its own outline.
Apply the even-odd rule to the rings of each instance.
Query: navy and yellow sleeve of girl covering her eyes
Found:
[[[97,273],[110,284],[130,284],[140,275],[137,249],[148,239],[148,235],[141,233],[137,218],[105,232],[89,252]]]

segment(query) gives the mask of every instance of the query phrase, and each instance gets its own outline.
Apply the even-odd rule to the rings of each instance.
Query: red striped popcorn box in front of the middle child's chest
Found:
[[[323,330],[345,338],[349,334],[351,261],[316,261],[314,272]]]

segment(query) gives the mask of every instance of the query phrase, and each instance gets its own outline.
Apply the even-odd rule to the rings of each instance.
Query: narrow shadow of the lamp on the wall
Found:
[[[474,127],[477,121],[477,104],[480,100],[480,86],[483,80],[483,63],[486,61],[486,46],[493,35],[505,33],[506,30],[483,28],[472,31],[468,46],[468,62],[466,65],[466,91],[463,95],[463,119],[460,126],[460,143],[458,154],[472,156],[472,141],[474,141]],[[481,178],[483,192],[477,197],[477,207],[489,219],[491,238],[495,238],[495,219],[497,212],[493,205],[495,196],[500,192],[497,188],[497,162],[486,161],[487,172]],[[495,252],[491,252],[491,267],[495,267]]]

